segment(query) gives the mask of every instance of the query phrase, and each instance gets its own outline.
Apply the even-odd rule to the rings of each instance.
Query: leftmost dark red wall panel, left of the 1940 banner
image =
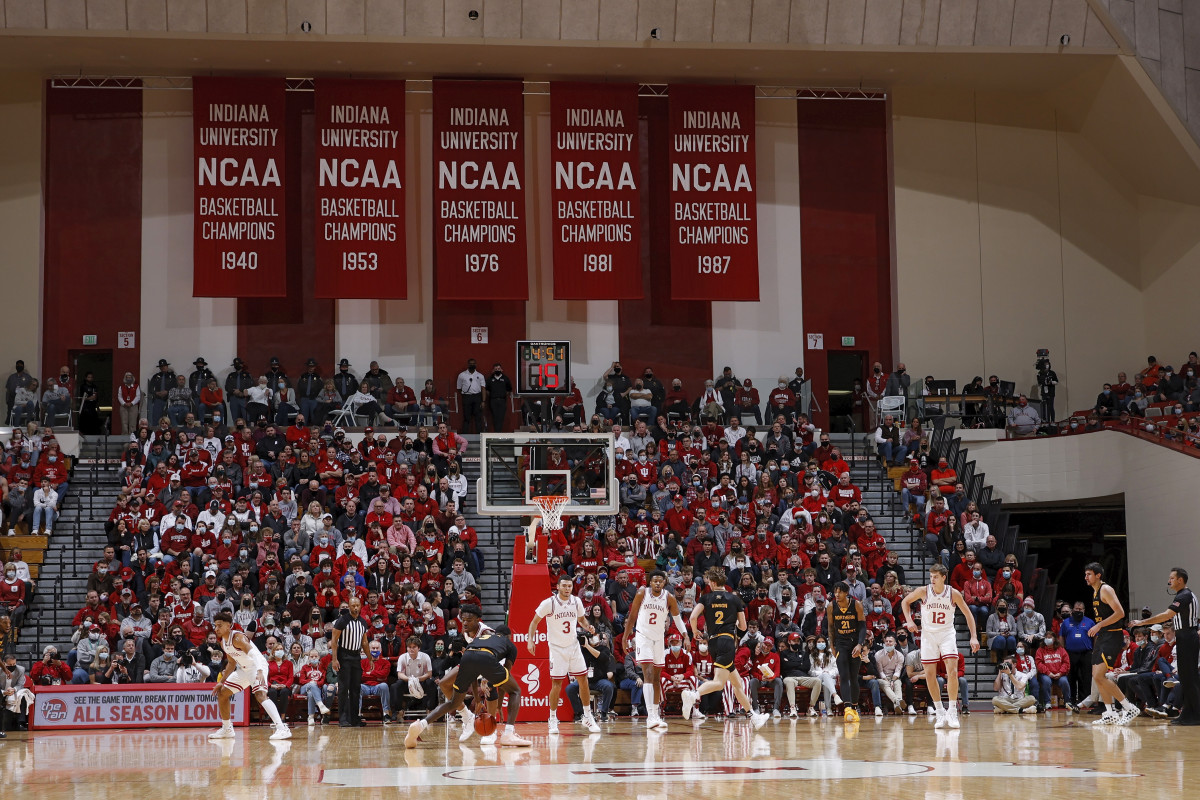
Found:
[[[116,349],[142,319],[140,91],[47,88],[44,191],[42,389],[86,333],[113,350],[114,385],[144,384],[138,349]]]

